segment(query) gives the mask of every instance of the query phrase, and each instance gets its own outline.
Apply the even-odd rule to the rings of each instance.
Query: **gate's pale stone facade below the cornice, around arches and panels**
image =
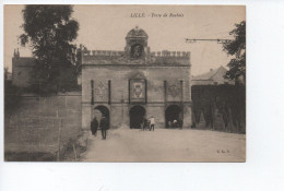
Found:
[[[146,117],[152,115],[156,118],[157,127],[165,127],[165,92],[164,81],[168,84],[178,84],[182,81],[184,99],[184,119],[185,126],[191,126],[191,91],[190,91],[190,67],[139,67],[139,65],[83,65],[82,70],[82,127],[88,129],[92,110],[104,105],[109,108],[111,127],[118,127],[120,123],[129,124],[129,79],[135,74],[145,76],[147,82],[147,104]],[[94,91],[96,86],[103,84],[106,91],[103,96],[94,94],[95,105],[91,105],[92,88],[91,81],[94,81]],[[111,104],[108,105],[107,83],[111,82]],[[167,96],[167,102],[173,104],[180,103],[180,96]]]

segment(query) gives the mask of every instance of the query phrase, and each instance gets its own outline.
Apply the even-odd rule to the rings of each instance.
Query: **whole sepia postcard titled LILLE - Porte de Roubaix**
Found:
[[[3,12],[4,162],[246,162],[246,5]]]

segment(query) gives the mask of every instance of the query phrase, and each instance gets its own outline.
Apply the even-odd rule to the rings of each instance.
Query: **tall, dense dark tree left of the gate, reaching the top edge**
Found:
[[[25,5],[22,46],[29,45],[36,60],[32,84],[48,92],[58,89],[60,71],[73,68],[79,23],[71,17],[72,5]]]

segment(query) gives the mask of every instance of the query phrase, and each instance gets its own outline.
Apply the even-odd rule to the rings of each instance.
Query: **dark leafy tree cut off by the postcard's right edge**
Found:
[[[223,44],[224,51],[235,57],[227,64],[229,70],[225,77],[230,80],[244,77],[246,81],[246,22],[242,21],[235,26],[236,28],[229,32],[229,35],[233,35],[235,39]]]

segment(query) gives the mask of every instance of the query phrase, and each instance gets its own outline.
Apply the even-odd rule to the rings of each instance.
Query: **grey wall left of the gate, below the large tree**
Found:
[[[5,116],[5,152],[56,152],[61,121],[61,145],[79,135],[81,108],[80,92],[22,96],[14,112]]]

